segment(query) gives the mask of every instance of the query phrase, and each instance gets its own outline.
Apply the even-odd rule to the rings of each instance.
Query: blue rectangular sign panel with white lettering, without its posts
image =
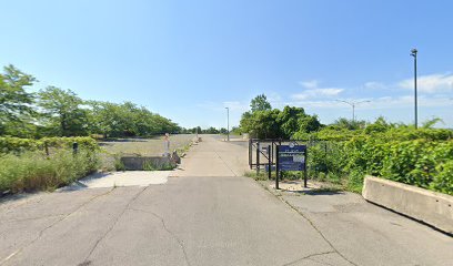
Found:
[[[304,171],[306,145],[280,145],[279,150],[280,171]]]

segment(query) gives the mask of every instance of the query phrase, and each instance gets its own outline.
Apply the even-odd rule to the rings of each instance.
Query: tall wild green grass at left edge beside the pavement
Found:
[[[0,192],[51,191],[99,168],[95,151],[60,150],[47,157],[41,152],[0,155]]]

